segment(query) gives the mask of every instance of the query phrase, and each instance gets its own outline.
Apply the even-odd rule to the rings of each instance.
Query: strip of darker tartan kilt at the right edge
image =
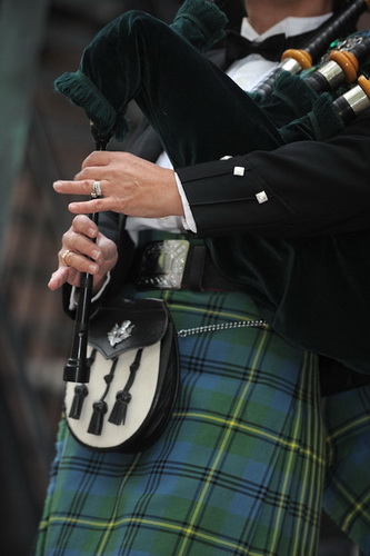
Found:
[[[370,555],[370,386],[326,403],[328,469],[323,507]]]

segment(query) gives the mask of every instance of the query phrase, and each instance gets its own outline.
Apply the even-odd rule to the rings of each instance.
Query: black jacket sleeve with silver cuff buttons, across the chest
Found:
[[[327,141],[177,169],[202,237],[369,228],[370,110]]]

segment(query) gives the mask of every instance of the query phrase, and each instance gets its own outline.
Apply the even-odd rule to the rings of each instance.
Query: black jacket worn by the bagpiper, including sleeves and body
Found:
[[[214,56],[222,59],[221,51]],[[370,371],[369,123],[367,112],[324,142],[300,141],[177,169],[198,234],[221,274],[250,292],[289,341],[364,373]],[[153,161],[161,149],[143,125],[128,150]],[[234,166],[246,168],[238,180]],[[261,190],[269,202],[259,205]],[[101,219],[101,231],[122,251],[108,296],[119,290],[129,267],[123,228],[124,217]]]

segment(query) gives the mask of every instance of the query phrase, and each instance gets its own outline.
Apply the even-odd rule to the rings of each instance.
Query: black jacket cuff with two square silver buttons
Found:
[[[198,235],[287,234],[291,210],[244,157],[177,169]]]

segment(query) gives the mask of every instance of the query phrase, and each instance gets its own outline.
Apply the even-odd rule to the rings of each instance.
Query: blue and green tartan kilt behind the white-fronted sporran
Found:
[[[260,318],[244,294],[146,295],[167,299],[178,330]],[[179,337],[179,350],[172,418],[143,453],[88,450],[61,420],[37,555],[317,553],[326,439],[316,356],[266,325]]]

